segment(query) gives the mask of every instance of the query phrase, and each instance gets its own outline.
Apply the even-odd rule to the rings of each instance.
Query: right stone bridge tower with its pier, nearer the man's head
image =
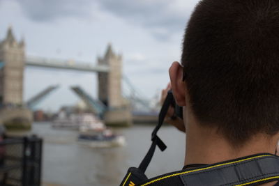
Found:
[[[130,125],[130,104],[123,98],[121,88],[122,56],[115,54],[109,44],[105,56],[98,58],[98,65],[109,67],[109,72],[98,72],[98,98],[108,108],[105,122],[109,125]]]

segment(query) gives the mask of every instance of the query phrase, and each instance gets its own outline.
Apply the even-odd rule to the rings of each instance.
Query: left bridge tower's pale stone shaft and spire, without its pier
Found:
[[[0,63],[0,103],[22,104],[24,40],[15,40],[11,26],[0,42]]]

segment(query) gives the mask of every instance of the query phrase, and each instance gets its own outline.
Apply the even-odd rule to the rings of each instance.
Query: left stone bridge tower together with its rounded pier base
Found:
[[[11,26],[7,36],[0,41],[0,104],[23,104],[23,78],[25,59],[24,40],[18,42]],[[7,129],[28,130],[31,128],[32,113],[25,107],[0,108],[0,125]]]

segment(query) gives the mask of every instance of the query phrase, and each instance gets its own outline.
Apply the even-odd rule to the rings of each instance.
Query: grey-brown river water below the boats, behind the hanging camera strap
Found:
[[[34,123],[33,134],[44,139],[43,182],[57,185],[119,185],[129,166],[138,166],[151,145],[153,125],[116,128],[126,137],[126,146],[90,148],[77,143],[77,131],[56,130],[50,123]],[[182,169],[185,134],[162,127],[158,136],[167,145],[153,156],[146,175],[151,178]]]

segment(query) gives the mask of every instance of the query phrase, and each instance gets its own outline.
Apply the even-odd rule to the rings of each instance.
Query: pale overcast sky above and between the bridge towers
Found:
[[[13,26],[24,38],[28,56],[96,63],[107,43],[123,54],[123,73],[152,98],[169,81],[167,70],[179,61],[183,30],[198,0],[0,0],[0,39]],[[96,98],[96,74],[26,68],[24,100],[46,86],[60,84],[38,105],[45,110],[79,99],[79,85]]]

